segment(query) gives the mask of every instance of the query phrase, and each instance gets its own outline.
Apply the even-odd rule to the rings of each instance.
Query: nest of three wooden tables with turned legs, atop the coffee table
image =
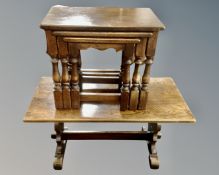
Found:
[[[113,11],[117,15],[114,16],[117,23],[109,20]],[[118,11],[123,13],[117,13]],[[100,17],[94,15],[98,13],[102,15],[102,21],[98,21]],[[137,18],[142,17],[136,13],[146,15],[146,21],[139,22]],[[88,25],[84,16],[96,23]],[[108,27],[105,26],[104,17],[109,21]],[[81,21],[75,20],[77,18]],[[121,110],[145,109],[157,36],[159,30],[164,28],[150,9],[54,6],[41,27],[46,32],[47,53],[52,58],[57,109],[77,109],[84,101],[120,103]],[[88,48],[121,50],[121,69],[81,69],[80,50]],[[59,60],[62,65],[61,76]],[[132,64],[134,72],[130,78]],[[141,65],[145,66],[142,77],[139,74]],[[83,89],[83,83],[109,84],[109,87]],[[113,89],[112,84],[117,87]]]

